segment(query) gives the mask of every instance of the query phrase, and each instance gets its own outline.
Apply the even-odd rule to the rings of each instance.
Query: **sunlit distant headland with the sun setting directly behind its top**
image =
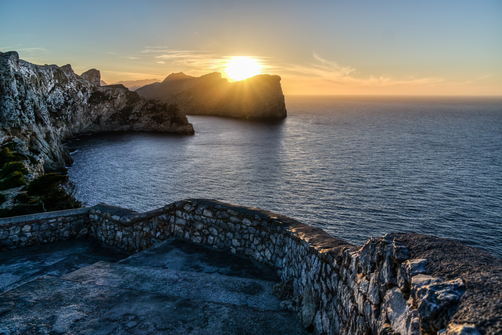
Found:
[[[229,83],[218,72],[201,77],[179,72],[135,92],[146,99],[177,104],[186,114],[274,118],[287,115],[281,77],[277,75],[261,74]]]

